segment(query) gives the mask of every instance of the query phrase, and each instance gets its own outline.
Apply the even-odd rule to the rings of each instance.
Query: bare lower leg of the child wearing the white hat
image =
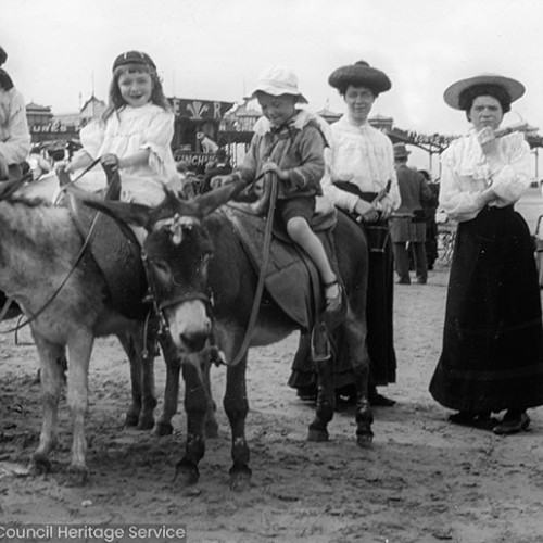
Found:
[[[328,310],[334,311],[341,304],[341,291],[338,277],[330,266],[323,243],[304,217],[291,217],[287,220],[287,232],[290,239],[299,244],[317,266],[325,283]]]

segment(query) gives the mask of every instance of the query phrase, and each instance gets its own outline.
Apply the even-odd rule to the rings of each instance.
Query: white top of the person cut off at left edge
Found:
[[[15,88],[0,89],[0,154],[8,164],[20,164],[30,151],[25,101]]]

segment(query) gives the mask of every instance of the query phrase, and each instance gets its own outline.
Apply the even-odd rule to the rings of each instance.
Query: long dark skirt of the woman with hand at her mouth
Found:
[[[540,288],[530,231],[513,206],[458,225],[430,393],[469,412],[543,404]]]

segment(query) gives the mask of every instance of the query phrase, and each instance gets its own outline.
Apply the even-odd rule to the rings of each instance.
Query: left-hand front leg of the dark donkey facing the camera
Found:
[[[201,368],[201,355],[191,354],[184,358],[185,411],[187,413],[187,444],[185,455],[176,466],[176,480],[181,485],[198,482],[198,464],[205,453],[204,420],[207,397]]]

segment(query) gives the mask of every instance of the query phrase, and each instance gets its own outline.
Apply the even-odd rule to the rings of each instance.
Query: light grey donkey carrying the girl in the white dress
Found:
[[[73,421],[68,477],[73,483],[83,484],[88,478],[84,422],[94,338],[115,334],[125,349],[132,387],[126,424],[140,429],[154,425],[154,352],[148,349],[146,320],[127,318],[113,307],[102,272],[90,252],[81,251],[84,240],[68,209],[31,197],[43,187],[28,187],[25,195],[25,189],[14,193],[14,184],[0,186],[0,289],[17,302],[29,320],[39,354],[43,419],[30,471],[51,469],[49,455],[56,443],[56,412],[67,349],[67,403]],[[169,367],[179,367],[177,349],[168,348],[167,342],[165,346]],[[157,425],[159,433],[167,433],[171,428],[177,396],[171,397]]]

